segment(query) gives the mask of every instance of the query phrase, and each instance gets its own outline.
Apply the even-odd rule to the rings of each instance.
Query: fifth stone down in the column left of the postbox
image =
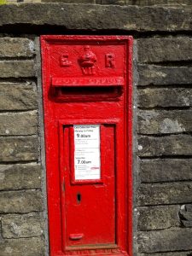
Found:
[[[0,161],[38,159],[37,137],[0,137]]]

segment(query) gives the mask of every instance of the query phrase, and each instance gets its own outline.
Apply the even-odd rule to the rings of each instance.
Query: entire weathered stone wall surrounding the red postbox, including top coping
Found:
[[[81,33],[135,38],[134,255],[192,255],[192,9],[34,3],[0,16],[0,255],[48,255],[38,39]]]

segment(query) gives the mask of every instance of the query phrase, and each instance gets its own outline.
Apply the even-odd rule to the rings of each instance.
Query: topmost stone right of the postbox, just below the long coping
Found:
[[[192,38],[140,38],[139,62],[191,61]]]

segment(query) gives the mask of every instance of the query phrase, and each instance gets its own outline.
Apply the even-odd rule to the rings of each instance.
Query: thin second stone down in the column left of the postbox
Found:
[[[0,61],[1,78],[31,78],[35,76],[33,61]]]

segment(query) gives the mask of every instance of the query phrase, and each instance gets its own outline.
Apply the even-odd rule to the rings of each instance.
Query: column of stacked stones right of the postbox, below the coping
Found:
[[[192,40],[157,32],[137,46],[138,255],[189,256]]]

